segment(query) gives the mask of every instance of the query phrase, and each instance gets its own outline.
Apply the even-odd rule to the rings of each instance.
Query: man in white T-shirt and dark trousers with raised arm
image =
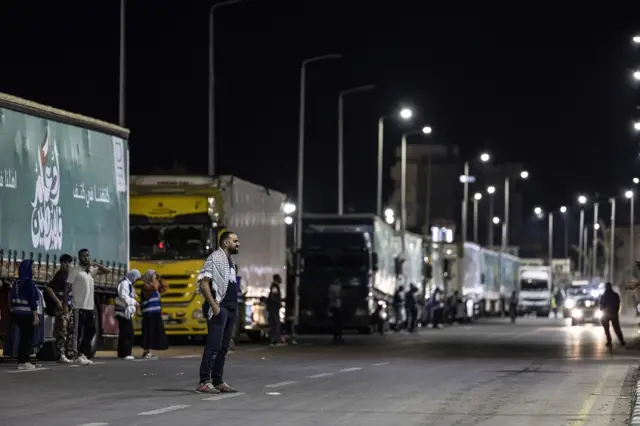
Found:
[[[78,265],[71,268],[67,282],[71,285],[73,293],[73,324],[74,324],[74,350],[75,362],[80,365],[93,364],[89,360],[91,354],[91,340],[96,334],[94,282],[99,274],[108,273],[109,270],[102,265],[91,262],[89,250],[82,249],[78,252]]]

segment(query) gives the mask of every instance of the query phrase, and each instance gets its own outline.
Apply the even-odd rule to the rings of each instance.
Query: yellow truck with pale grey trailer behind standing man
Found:
[[[149,175],[131,177],[131,267],[153,269],[168,285],[162,317],[168,336],[207,333],[197,276],[226,230],[238,234],[240,315],[238,331],[261,339],[268,327],[261,298],[273,275],[285,276],[285,195],[235,176]],[[136,284],[139,295],[142,283]],[[282,288],[283,300],[286,289]],[[283,302],[284,303],[284,302]],[[284,310],[281,310],[281,319]],[[134,321],[141,334],[140,317]]]

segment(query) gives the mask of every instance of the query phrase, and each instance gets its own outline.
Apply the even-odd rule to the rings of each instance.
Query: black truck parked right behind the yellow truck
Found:
[[[394,230],[366,214],[302,217],[299,328],[330,328],[329,286],[342,287],[343,327],[368,334],[388,319],[396,291]]]

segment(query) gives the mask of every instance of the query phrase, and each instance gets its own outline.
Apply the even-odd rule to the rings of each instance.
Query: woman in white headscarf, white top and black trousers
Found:
[[[133,316],[136,314],[138,301],[135,298],[133,284],[142,278],[137,269],[127,272],[118,284],[116,297],[116,319],[118,320],[118,358],[132,360],[133,355]]]

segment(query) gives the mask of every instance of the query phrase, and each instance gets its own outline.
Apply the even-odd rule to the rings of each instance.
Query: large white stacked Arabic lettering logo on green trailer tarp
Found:
[[[45,250],[62,249],[62,207],[60,201],[60,165],[58,147],[52,143],[53,160],[48,165],[49,132],[39,149],[39,161],[36,165],[35,197],[31,206],[31,242],[34,248],[43,247]]]

